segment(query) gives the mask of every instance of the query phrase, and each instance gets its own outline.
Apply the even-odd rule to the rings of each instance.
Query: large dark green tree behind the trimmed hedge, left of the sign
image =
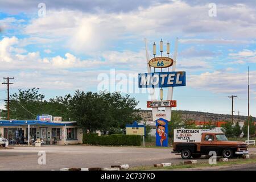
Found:
[[[125,129],[125,125],[139,118],[138,102],[120,93],[92,93],[77,90],[70,100],[72,118],[84,130],[109,131]],[[141,120],[141,119],[138,119]]]

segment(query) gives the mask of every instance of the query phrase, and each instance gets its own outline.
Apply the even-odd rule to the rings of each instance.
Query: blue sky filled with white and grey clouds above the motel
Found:
[[[11,93],[38,87],[47,99],[76,89],[121,88],[146,109],[148,94],[134,88],[132,77],[147,72],[144,38],[151,57],[160,39],[171,43],[173,56],[179,38],[176,69],[187,72],[187,86],[174,89],[176,109],[230,114],[228,96],[237,95],[234,110],[246,115],[249,66],[255,116],[255,5],[254,0],[0,0],[0,77],[15,77]],[[1,109],[6,94],[2,85]]]

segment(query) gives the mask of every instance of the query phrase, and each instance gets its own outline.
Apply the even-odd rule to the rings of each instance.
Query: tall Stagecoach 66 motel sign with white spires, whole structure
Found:
[[[177,42],[175,42],[174,57],[170,57],[170,43],[166,44],[167,56],[163,56],[163,41],[160,41],[160,56],[156,57],[156,44],[153,44],[153,55],[150,59],[146,47],[147,73],[139,73],[139,88],[147,88],[150,91],[151,101],[147,101],[147,107],[152,109],[153,120],[156,122],[156,146],[168,147],[168,122],[171,122],[172,107],[176,107],[176,101],[172,100],[175,86],[185,86],[185,72],[176,72]],[[163,100],[163,88],[167,88],[167,98]],[[160,89],[160,99],[156,96],[155,89]],[[164,110],[159,110],[164,107]]]

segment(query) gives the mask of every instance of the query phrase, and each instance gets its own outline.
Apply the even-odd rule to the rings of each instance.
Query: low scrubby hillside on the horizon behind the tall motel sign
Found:
[[[174,111],[175,112],[175,111]],[[199,111],[188,111],[188,110],[179,110],[181,117],[186,119],[192,119],[193,121],[231,121],[231,115],[229,114],[214,114],[214,113],[204,113]],[[151,110],[141,110],[140,112],[143,121],[152,121],[152,111]],[[234,115],[233,121],[236,122],[246,121],[247,116],[245,115]],[[253,117],[253,120],[256,121],[256,118]]]

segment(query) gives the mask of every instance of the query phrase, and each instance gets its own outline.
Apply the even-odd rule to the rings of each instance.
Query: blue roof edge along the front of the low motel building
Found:
[[[36,125],[36,126],[75,126],[76,122],[46,122],[37,120],[0,120],[0,126],[22,126],[22,125]]]

